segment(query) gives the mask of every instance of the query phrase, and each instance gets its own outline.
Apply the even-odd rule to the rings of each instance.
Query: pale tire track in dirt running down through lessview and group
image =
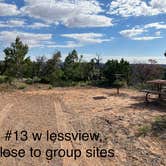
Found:
[[[57,128],[58,131],[62,131],[63,133],[67,133],[69,131],[71,132],[75,132],[75,130],[73,129],[73,127],[69,124],[68,122],[68,117],[66,116],[66,114],[63,112],[62,106],[61,106],[61,102],[59,100],[54,101],[54,106],[55,106],[55,110],[56,110],[56,119],[57,119]],[[76,145],[77,146],[77,145]],[[85,149],[87,149],[87,145],[81,142],[80,145],[80,150],[82,152],[85,151]],[[61,148],[62,149],[74,149],[75,145],[73,142],[61,142]],[[103,166],[103,164],[101,163],[101,160],[98,158],[92,158],[92,159],[88,159],[86,158],[84,155],[82,155],[79,160],[72,160],[70,158],[64,158],[63,159],[63,166]]]

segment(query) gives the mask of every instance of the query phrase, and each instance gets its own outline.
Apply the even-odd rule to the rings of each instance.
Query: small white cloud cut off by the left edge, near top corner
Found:
[[[0,16],[14,16],[20,14],[16,5],[0,2]]]

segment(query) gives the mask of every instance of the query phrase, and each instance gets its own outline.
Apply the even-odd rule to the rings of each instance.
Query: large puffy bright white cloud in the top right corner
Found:
[[[110,3],[110,14],[129,16],[152,16],[166,13],[165,0],[113,0]]]

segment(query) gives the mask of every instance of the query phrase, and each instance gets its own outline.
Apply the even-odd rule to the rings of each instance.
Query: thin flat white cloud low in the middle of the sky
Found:
[[[101,33],[73,33],[73,34],[63,34],[62,37],[67,37],[78,41],[81,44],[94,44],[103,43],[111,41],[111,39],[104,38]]]

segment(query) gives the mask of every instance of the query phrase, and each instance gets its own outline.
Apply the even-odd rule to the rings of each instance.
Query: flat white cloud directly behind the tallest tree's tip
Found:
[[[19,36],[24,43],[28,44],[29,47],[41,47],[52,39],[51,34],[2,31],[0,32],[0,42],[8,45],[13,42],[17,36]]]

